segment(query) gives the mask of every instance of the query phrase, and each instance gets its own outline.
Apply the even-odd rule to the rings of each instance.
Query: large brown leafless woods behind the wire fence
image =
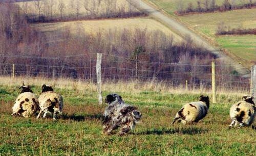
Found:
[[[0,16],[6,19],[0,25],[2,75],[10,75],[15,64],[16,75],[96,80],[96,53],[102,53],[103,80],[155,79],[174,84],[188,80],[195,85],[211,84],[210,63],[216,56],[196,46],[189,36],[177,42],[161,31],[138,28],[84,33],[78,27],[78,35],[69,30],[52,32],[61,40],[50,41],[51,36],[33,30],[26,17],[13,9],[16,7],[0,5]],[[230,75],[231,71],[225,66],[220,68],[219,80],[240,79]]]

